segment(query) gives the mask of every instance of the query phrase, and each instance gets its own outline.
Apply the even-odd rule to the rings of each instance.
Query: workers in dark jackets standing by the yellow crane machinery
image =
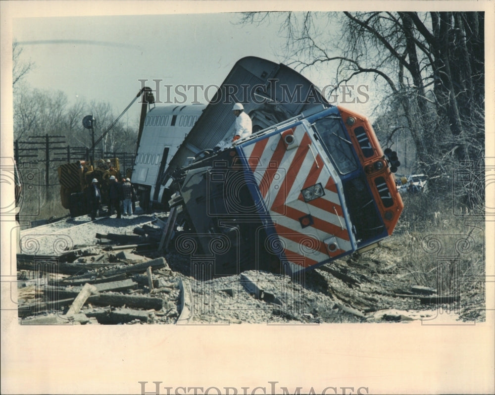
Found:
[[[132,215],[135,211],[136,191],[134,190],[129,178],[123,179],[120,183],[115,176],[110,176],[110,185],[108,188],[108,212],[107,215],[113,215],[117,212],[117,218],[124,215]],[[101,190],[98,186],[98,180],[94,178],[88,188],[88,203],[90,207],[91,219],[94,221],[99,207],[101,205]],[[120,204],[123,203],[123,210]]]

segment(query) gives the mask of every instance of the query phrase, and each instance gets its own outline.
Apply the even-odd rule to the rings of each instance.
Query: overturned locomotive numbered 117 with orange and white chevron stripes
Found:
[[[181,169],[174,202],[186,229],[203,252],[226,246],[215,275],[297,273],[392,234],[403,204],[368,120],[341,107],[315,111]]]

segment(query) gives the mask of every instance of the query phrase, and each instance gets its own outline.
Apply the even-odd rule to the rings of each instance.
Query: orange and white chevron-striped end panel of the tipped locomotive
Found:
[[[288,133],[296,139],[290,149],[283,140]],[[335,180],[302,125],[243,149],[293,271],[352,249]],[[301,190],[318,183],[324,195],[305,202]],[[300,218],[308,214],[302,227]]]

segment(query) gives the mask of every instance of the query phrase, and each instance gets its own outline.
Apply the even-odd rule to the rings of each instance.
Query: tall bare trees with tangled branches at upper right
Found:
[[[279,21],[297,70],[331,67],[336,86],[361,74],[382,81],[379,114],[389,121],[381,131],[388,141],[407,131],[419,168],[440,176],[462,163],[479,178],[483,12],[246,13],[242,23],[270,19]]]

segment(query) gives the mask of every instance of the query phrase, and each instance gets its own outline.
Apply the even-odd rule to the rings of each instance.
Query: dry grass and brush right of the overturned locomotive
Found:
[[[401,287],[421,285],[438,295],[461,297],[469,319],[485,308],[485,224],[474,213],[456,215],[448,202],[428,195],[406,196],[394,235],[385,245],[395,251]]]

